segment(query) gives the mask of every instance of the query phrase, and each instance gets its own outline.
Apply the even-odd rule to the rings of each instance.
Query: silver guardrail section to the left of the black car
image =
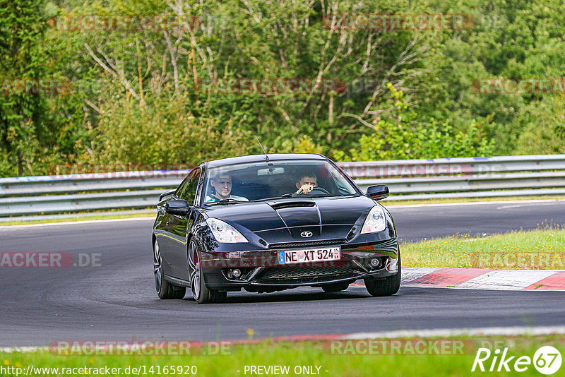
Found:
[[[190,169],[0,178],[0,219],[23,215],[148,208]]]

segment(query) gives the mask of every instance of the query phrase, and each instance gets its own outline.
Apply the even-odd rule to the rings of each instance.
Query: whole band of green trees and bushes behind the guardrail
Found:
[[[332,29],[339,14],[463,14],[470,28]],[[64,28],[79,15],[190,15],[180,28]],[[55,16],[53,18],[53,16]],[[100,25],[100,24],[99,24]],[[480,78],[559,78],[558,0],[0,0],[0,176],[54,164],[196,164],[269,152],[338,160],[562,153],[564,98],[484,94]],[[210,90],[302,78],[326,90]],[[387,88],[388,85],[388,88]]]

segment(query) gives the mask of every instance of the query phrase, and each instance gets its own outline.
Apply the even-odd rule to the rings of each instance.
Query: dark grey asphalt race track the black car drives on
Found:
[[[565,201],[391,208],[405,241],[565,225]],[[0,251],[59,251],[88,267],[0,268],[0,346],[56,340],[217,340],[400,329],[563,325],[565,292],[362,287],[230,294],[225,304],[155,294],[149,220],[0,229]],[[92,265],[92,258],[95,265]]]

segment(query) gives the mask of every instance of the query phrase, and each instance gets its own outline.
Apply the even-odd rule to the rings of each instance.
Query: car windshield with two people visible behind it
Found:
[[[208,169],[205,205],[269,198],[352,196],[357,191],[325,160],[285,160]]]

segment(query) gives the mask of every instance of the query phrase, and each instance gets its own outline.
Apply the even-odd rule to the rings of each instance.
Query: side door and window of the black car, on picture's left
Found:
[[[186,259],[186,241],[189,229],[191,229],[196,219],[196,210],[194,210],[194,199],[196,198],[196,190],[201,177],[200,167],[196,167],[190,174],[186,185],[182,191],[177,193],[178,199],[183,199],[189,203],[189,213],[186,216],[169,214],[169,232],[172,235],[172,243],[169,249],[169,263],[171,263],[171,273],[174,277],[188,280],[188,264]]]

